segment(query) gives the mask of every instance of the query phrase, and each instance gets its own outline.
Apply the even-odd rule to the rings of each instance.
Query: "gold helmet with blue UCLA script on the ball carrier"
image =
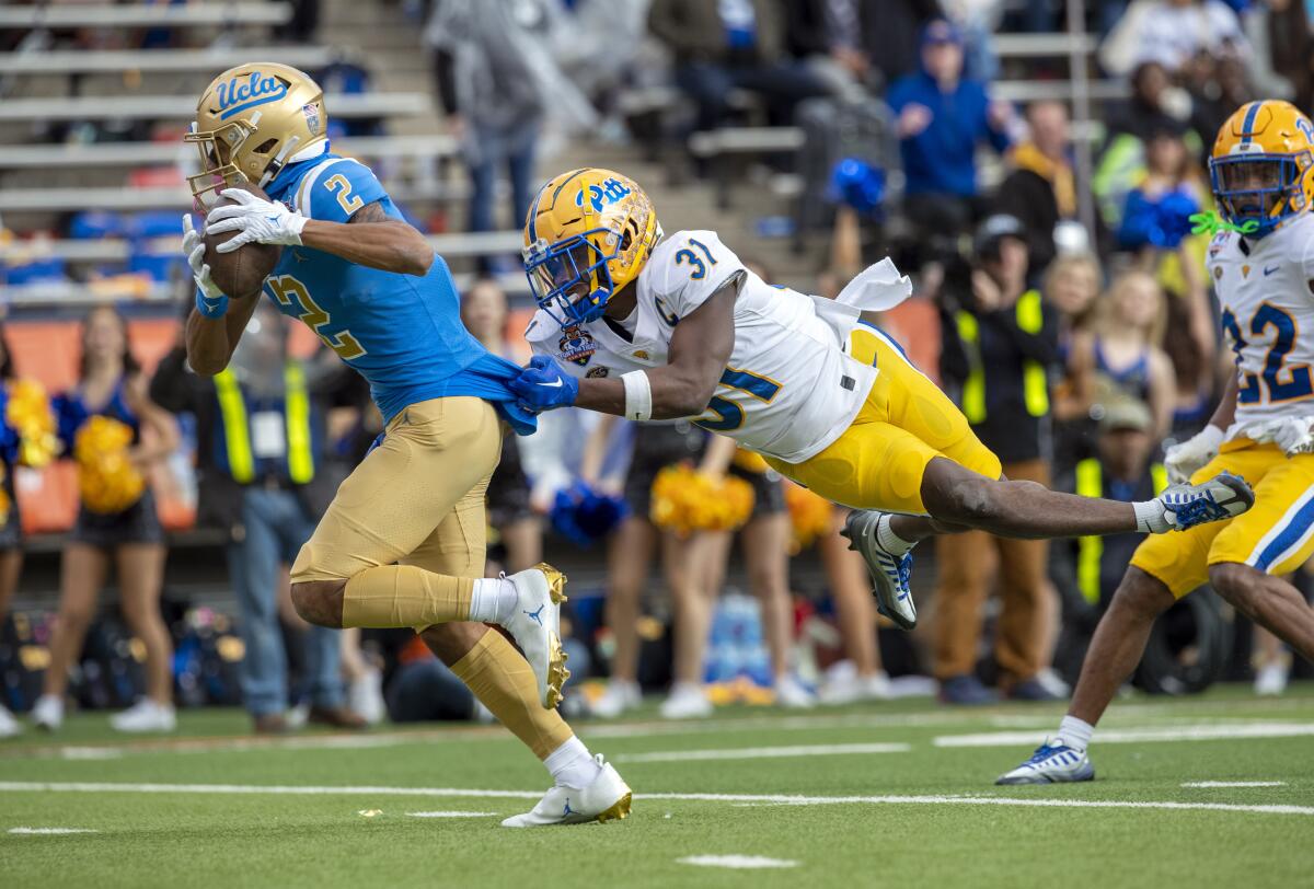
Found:
[[[200,150],[201,172],[188,176],[188,185],[202,201],[234,183],[264,188],[293,154],[327,135],[323,91],[309,75],[275,62],[239,64],[215,77],[196,104],[183,141]]]

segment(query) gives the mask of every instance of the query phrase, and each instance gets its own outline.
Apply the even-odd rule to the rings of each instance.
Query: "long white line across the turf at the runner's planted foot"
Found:
[[[260,784],[127,784],[0,781],[0,792],[13,793],[237,793],[268,796],[427,796],[485,800],[536,800],[541,791],[480,791],[430,787],[306,787]],[[1064,800],[1054,797],[1003,796],[800,796],[773,793],[636,793],[636,800],[681,802],[765,802],[783,806],[821,805],[993,805],[1051,809],[1173,809],[1184,812],[1236,812],[1280,815],[1311,815],[1314,806],[1240,805],[1230,802],[1176,802],[1154,800]]]

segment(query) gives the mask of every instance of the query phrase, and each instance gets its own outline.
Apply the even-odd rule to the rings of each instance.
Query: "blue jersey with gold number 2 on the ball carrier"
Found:
[[[289,164],[265,193],[325,222],[347,222],[374,202],[402,218],[368,167],[334,154]],[[516,432],[533,431],[533,418],[515,408],[506,387],[519,368],[489,353],[461,324],[456,284],[442,256],[417,277],[285,247],[264,294],[369,381],[385,422],[415,402],[473,395],[494,402]]]

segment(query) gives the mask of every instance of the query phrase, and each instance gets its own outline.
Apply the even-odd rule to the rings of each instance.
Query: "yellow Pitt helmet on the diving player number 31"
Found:
[[[597,320],[661,236],[657,210],[633,180],[595,167],[551,179],[524,221],[535,302],[562,327]]]

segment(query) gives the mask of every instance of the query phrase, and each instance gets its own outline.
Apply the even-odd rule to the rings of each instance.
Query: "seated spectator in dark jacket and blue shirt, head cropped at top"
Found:
[[[786,54],[777,0],[653,0],[648,28],[675,55],[675,83],[698,105],[699,131],[721,125],[733,89],[761,96],[775,125],[791,123],[804,98],[827,93]]]

